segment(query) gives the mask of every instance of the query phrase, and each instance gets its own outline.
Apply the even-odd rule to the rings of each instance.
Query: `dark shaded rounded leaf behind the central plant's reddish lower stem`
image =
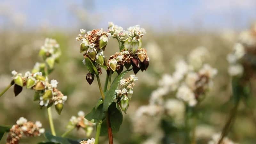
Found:
[[[116,102],[113,102],[108,108],[108,114],[110,119],[110,124],[113,133],[117,133],[123,123],[123,114]],[[101,124],[100,136],[105,136],[108,134],[107,120],[104,120]]]

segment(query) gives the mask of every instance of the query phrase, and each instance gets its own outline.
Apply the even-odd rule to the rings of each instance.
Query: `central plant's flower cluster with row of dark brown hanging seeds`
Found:
[[[118,74],[123,71],[124,67],[129,69],[131,65],[134,74],[137,74],[140,70],[147,70],[149,58],[146,49],[140,48],[135,53],[131,52],[131,50],[116,52],[110,56],[107,63],[108,71],[116,71]]]

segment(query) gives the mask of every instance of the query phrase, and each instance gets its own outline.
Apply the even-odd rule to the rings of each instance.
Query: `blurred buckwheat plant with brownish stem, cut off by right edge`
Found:
[[[256,76],[256,24],[252,25],[251,29],[241,32],[239,41],[234,45],[233,52],[228,54],[227,60],[229,62],[228,73],[232,77],[234,107],[231,109],[227,122],[223,127],[219,144],[228,134],[241,100],[252,112],[251,106],[254,104],[250,102],[253,101],[251,97],[251,81]],[[253,114],[251,116],[255,119]]]

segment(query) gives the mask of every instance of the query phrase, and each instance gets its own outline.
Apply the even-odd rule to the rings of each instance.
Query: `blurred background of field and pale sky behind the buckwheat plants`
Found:
[[[83,110],[94,107],[100,92],[97,82],[91,86],[85,81],[87,73],[80,54],[79,42],[75,41],[79,29],[107,30],[108,21],[127,28],[136,24],[145,28],[143,47],[150,57],[149,68],[139,72],[132,101],[120,132],[114,135],[116,144],[139,144],[146,136],[134,132],[132,118],[135,110],[147,105],[150,93],[158,87],[163,74],[172,73],[174,64],[197,47],[209,51],[206,60],[218,69],[214,86],[200,105],[202,119],[198,122],[207,143],[214,132],[220,132],[229,111],[231,96],[230,76],[226,56],[232,51],[241,30],[247,29],[256,18],[256,1],[0,1],[0,90],[10,83],[11,71],[24,73],[33,68],[41,45],[46,37],[56,39],[62,51],[50,79],[59,81],[58,88],[68,96],[61,116],[53,111],[57,134],[65,131],[69,118]],[[118,50],[115,40],[110,40],[105,54],[109,57]],[[104,81],[103,72],[101,76]],[[243,105],[241,105],[241,109]],[[24,116],[28,120],[40,120],[46,131],[50,131],[46,109],[40,110],[33,101],[33,92],[24,89],[14,97],[12,89],[0,98],[0,124],[12,125]],[[256,140],[256,125],[249,111],[239,111],[235,127],[229,137],[240,144],[253,144]],[[150,125],[149,125],[150,127]],[[201,133],[200,133],[201,132]],[[207,133],[209,132],[209,133]],[[208,134],[208,135],[207,135]],[[93,134],[94,135],[94,134]],[[84,138],[83,131],[73,131],[70,138]],[[5,137],[0,144],[5,143]],[[107,138],[102,137],[102,143]],[[20,143],[36,143],[43,136],[23,139]],[[149,144],[149,143],[148,143]]]

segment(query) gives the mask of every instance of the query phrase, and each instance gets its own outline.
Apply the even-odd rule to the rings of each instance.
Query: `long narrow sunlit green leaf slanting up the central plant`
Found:
[[[105,100],[103,103],[103,111],[107,111],[109,105],[116,100],[116,89],[119,85],[119,81],[124,77],[124,75],[128,72],[128,70],[120,73],[118,76],[116,76],[115,80],[110,86],[110,89],[105,94]]]

